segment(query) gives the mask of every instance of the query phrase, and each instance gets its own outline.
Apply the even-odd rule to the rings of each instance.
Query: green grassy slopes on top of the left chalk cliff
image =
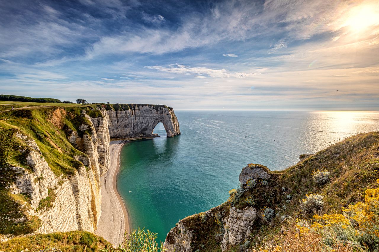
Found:
[[[2,106],[0,110],[1,108]],[[33,172],[25,162],[27,151],[23,150],[28,147],[15,135],[21,133],[34,139],[53,172],[57,176],[67,176],[82,165],[74,156],[85,155],[67,140],[70,131],[78,131],[81,124],[89,123],[88,119],[81,115],[83,109],[92,117],[101,116],[99,110],[91,110],[90,107],[80,105],[64,108],[39,106],[0,112],[0,233],[20,235],[30,233],[39,227],[38,218],[26,213],[30,207],[28,195],[10,194],[7,189],[15,175],[12,166],[20,166]],[[42,199],[41,207],[49,207],[53,199],[54,195]],[[26,216],[27,220],[18,224],[8,221],[8,217],[23,216]]]

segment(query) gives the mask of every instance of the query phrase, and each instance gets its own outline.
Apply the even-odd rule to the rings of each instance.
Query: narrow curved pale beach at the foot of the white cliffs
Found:
[[[130,231],[128,213],[116,188],[116,177],[120,167],[119,156],[125,143],[127,141],[110,142],[110,168],[106,174],[100,177],[102,213],[95,233],[104,237],[114,246],[118,246],[122,242],[125,231]]]

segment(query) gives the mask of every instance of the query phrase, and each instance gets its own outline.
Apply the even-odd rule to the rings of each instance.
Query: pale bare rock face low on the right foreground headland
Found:
[[[225,251],[228,245],[242,243],[251,234],[256,218],[257,210],[254,207],[247,207],[243,210],[230,208],[229,216],[224,224],[226,230],[221,243],[222,251]]]

